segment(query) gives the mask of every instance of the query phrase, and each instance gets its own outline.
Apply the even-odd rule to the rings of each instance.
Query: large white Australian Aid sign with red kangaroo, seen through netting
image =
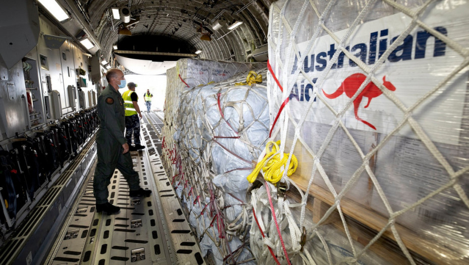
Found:
[[[459,47],[467,47],[467,9],[467,3],[451,7],[438,3],[429,7],[420,20],[455,41]],[[343,46],[371,69],[411,23],[412,18],[402,13],[364,23],[355,29]],[[342,30],[334,34],[341,39],[346,32],[347,30]],[[306,121],[332,125],[335,116],[326,104],[318,100],[316,93],[320,93],[327,104],[338,113],[365,81],[365,71],[346,57],[344,52],[341,52],[338,60],[330,66],[339,44],[328,34],[319,37],[311,50],[306,51],[307,46],[308,42],[298,44],[301,58],[294,55],[287,64],[290,78],[300,68],[303,68],[308,76],[307,80],[300,73],[296,80],[288,79],[290,82],[283,84],[291,91],[288,115],[297,121],[300,120],[302,115],[305,115],[309,102],[314,100],[316,102],[312,104]],[[431,32],[417,26],[405,34],[384,64],[375,71],[374,76],[402,102],[403,108],[410,108],[461,65],[463,57],[459,54],[460,51],[454,48],[457,46],[450,46]],[[307,56],[302,59],[304,54]],[[331,69],[327,72],[328,66]],[[467,69],[463,69],[412,111],[411,116],[432,141],[458,144],[466,82]],[[313,88],[313,84],[321,85]],[[271,85],[278,89],[274,83]],[[342,121],[350,129],[389,134],[403,118],[404,110],[397,107],[396,103],[370,82],[357,98],[350,102]],[[397,131],[396,135],[419,138],[408,123]]]

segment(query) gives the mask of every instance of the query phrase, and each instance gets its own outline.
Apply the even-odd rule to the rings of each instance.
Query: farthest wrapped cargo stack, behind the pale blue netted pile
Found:
[[[167,169],[172,168],[177,156],[173,135],[180,112],[180,97],[184,90],[210,82],[226,80],[240,72],[262,67],[257,63],[237,63],[205,59],[181,59],[176,66],[166,71],[166,95],[164,104],[164,127],[162,128],[163,161]],[[265,64],[264,64],[265,67]],[[184,106],[183,106],[184,107]]]

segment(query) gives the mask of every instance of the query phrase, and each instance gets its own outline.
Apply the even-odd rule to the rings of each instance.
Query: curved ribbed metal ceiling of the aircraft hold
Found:
[[[254,49],[267,45],[270,0],[62,0],[95,42],[104,59],[112,57],[113,45],[119,50],[142,54],[120,54],[134,59],[175,61],[202,50],[198,58],[248,61]],[[112,8],[127,7],[131,20],[114,19]],[[77,13],[77,12],[74,12]],[[221,20],[226,25],[214,30]],[[228,30],[234,21],[244,23]],[[89,26],[88,26],[89,25]],[[67,27],[67,24],[64,24]],[[126,33],[124,35],[119,33]],[[70,31],[70,30],[69,30]],[[89,32],[92,31],[92,32]],[[201,39],[202,37],[202,39]],[[205,38],[206,40],[203,40]],[[207,40],[210,38],[210,40]],[[153,54],[151,54],[153,52]]]

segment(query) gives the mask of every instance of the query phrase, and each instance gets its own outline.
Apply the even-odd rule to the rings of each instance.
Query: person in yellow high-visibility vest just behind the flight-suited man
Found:
[[[129,90],[122,94],[124,106],[126,107],[126,140],[131,151],[145,148],[145,146],[140,144],[139,116],[140,119],[142,119],[142,113],[140,112],[140,108],[137,104],[138,96],[137,93],[135,93],[136,86],[137,85],[134,82],[130,82],[127,84]],[[132,133],[134,135],[135,146],[132,146]]]

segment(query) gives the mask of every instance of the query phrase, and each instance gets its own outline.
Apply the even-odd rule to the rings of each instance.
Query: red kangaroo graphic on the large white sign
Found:
[[[340,96],[343,92],[345,92],[345,95],[351,98],[355,95],[355,93],[357,93],[358,88],[362,85],[362,83],[365,81],[366,78],[367,77],[361,73],[353,74],[345,78],[345,80],[343,80],[342,84],[339,86],[339,88],[337,88],[337,90],[334,93],[327,94],[326,92],[324,92],[324,89],[322,90],[322,92],[324,93],[326,97],[330,99]],[[391,82],[386,81],[386,76],[383,77],[383,85],[391,91],[396,90],[396,88],[394,87],[394,85],[391,84]],[[370,82],[354,100],[355,118],[363,122],[364,124],[370,126],[374,130],[376,130],[375,126],[373,126],[371,123],[364,121],[360,119],[360,117],[358,117],[358,108],[360,107],[360,103],[362,102],[362,98],[364,96],[368,97],[368,103],[365,106],[365,108],[368,108],[368,106],[370,105],[371,99],[373,99],[374,97],[380,96],[382,93],[383,92],[381,91],[381,89],[379,89],[379,87],[377,87],[373,82]]]

